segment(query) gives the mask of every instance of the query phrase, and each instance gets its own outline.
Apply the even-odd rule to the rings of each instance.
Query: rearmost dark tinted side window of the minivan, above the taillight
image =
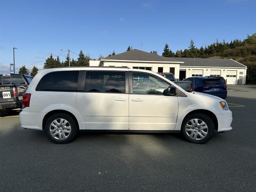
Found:
[[[76,91],[79,71],[55,71],[46,74],[37,84],[36,90]]]

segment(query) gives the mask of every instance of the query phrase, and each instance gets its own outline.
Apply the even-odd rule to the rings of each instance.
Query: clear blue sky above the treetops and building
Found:
[[[170,49],[209,45],[256,32],[255,0],[82,1],[0,0],[0,72],[33,64],[41,69],[50,53],[82,49],[97,59],[113,50],[134,49],[162,54]],[[70,53],[71,58],[77,55]],[[60,54],[64,58],[67,52]],[[39,62],[42,61],[42,62]]]

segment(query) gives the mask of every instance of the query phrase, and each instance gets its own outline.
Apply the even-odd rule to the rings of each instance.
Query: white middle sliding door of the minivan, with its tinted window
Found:
[[[76,107],[84,115],[86,129],[129,129],[126,73],[108,70],[86,71],[85,92],[76,94]]]

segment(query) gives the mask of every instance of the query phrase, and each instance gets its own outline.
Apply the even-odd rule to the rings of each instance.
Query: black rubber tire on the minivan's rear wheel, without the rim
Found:
[[[56,119],[65,119],[68,121],[68,124],[70,125],[70,133],[69,135],[67,136],[66,139],[56,139],[52,136],[51,132],[50,132],[50,128],[53,129],[53,127],[51,126],[52,122]],[[51,126],[51,127],[50,127]],[[62,129],[62,128],[61,128]],[[78,126],[76,124],[76,121],[74,120],[74,118],[66,113],[57,113],[57,114],[54,114],[52,116],[50,116],[47,120],[46,120],[46,123],[45,123],[45,127],[44,127],[44,130],[48,136],[48,138],[53,142],[53,143],[57,143],[57,144],[66,144],[66,143],[69,143],[70,141],[72,141],[77,133],[78,133]],[[59,130],[59,129],[58,129]],[[67,129],[66,129],[67,130]],[[57,132],[57,131],[56,131]],[[61,132],[61,133],[58,133],[58,136],[60,136],[59,134],[62,135],[62,131],[58,131],[58,132]],[[64,133],[64,132],[63,132]],[[68,134],[68,133],[65,133],[65,134]]]

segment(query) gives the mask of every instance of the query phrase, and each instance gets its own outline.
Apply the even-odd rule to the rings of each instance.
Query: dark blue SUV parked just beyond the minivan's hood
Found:
[[[227,86],[216,77],[189,77],[185,79],[194,84],[196,92],[211,94],[222,99],[227,97]]]

